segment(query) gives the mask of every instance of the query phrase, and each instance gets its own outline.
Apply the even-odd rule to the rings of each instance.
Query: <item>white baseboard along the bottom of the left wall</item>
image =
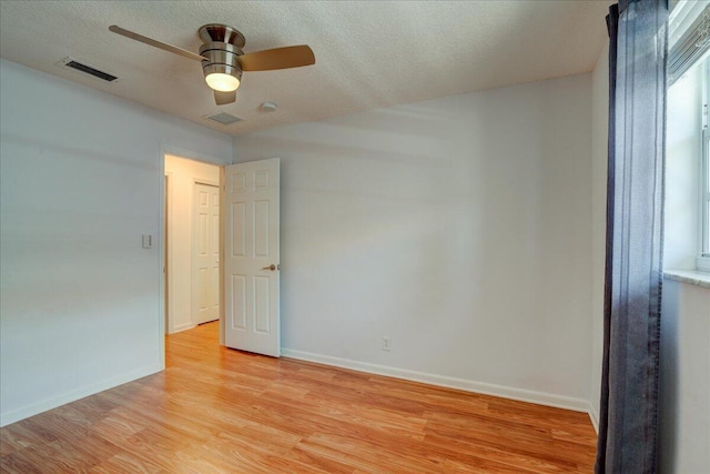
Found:
[[[146,375],[152,375],[156,372],[160,372],[161,370],[162,369],[160,364],[149,365],[138,371],[130,372],[128,374],[108,379],[99,383],[81,387],[79,390],[63,393],[61,395],[53,396],[51,399],[43,400],[38,403],[33,403],[31,405],[23,406],[18,410],[13,410],[12,412],[0,413],[0,427],[19,422],[20,420],[24,420],[30,416],[38,415],[42,412],[47,412],[48,410],[55,409],[67,403],[75,402],[77,400],[83,399],[85,396],[93,395],[99,392],[103,392],[104,390],[113,389],[114,386],[118,386],[128,382],[132,382],[136,379],[141,379]]]

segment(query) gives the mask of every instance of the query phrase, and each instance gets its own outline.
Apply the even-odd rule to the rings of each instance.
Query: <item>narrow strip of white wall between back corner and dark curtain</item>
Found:
[[[607,240],[607,163],[609,143],[609,44],[591,74],[591,391],[590,415],[599,426],[604,356],[604,282]]]

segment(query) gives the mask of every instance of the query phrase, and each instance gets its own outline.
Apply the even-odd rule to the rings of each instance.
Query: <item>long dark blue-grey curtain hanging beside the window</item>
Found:
[[[609,9],[609,171],[597,473],[656,472],[666,0]]]

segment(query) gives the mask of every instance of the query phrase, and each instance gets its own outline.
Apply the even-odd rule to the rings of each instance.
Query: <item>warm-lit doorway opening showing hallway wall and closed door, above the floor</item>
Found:
[[[165,153],[165,333],[219,319],[220,165]]]

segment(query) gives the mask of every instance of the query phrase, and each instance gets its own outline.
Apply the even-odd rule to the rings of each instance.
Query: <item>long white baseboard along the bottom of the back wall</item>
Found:
[[[296,351],[293,349],[282,349],[284,357],[298,359],[301,361],[316,362],[318,364],[333,365],[336,367],[349,369],[358,372],[366,372],[377,375],[386,375],[403,379],[412,382],[422,382],[430,385],[457,389],[466,392],[480,393],[484,395],[500,396],[503,399],[517,400],[520,402],[536,403],[538,405],[554,406],[558,409],[572,410],[575,412],[590,413],[589,401],[570,396],[555,395],[551,393],[535,392],[531,390],[516,389],[504,385],[496,385],[485,382],[475,382],[466,379],[455,379],[443,375],[429,374],[425,372],[409,371],[406,369],[390,367],[386,365],[371,364],[367,362],[352,361],[349,359],[332,357],[329,355],[313,354],[310,352]],[[594,421],[592,421],[594,423]]]

